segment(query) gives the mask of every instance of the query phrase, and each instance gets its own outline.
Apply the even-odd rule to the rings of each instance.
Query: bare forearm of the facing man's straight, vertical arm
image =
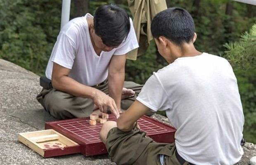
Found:
[[[124,82],[124,72],[109,73],[109,96],[116,102],[117,108],[121,109],[121,97]]]

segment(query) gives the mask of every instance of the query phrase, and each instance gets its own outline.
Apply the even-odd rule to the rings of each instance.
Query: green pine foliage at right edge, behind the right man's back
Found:
[[[256,143],[256,24],[239,41],[225,47],[224,57],[235,70],[244,109],[244,137]]]

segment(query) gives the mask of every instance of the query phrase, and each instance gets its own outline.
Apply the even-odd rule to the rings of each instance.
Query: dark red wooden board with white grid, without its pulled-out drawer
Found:
[[[89,125],[90,118],[75,118],[45,123],[45,129],[53,129],[81,145],[81,153],[93,156],[107,153],[105,145],[99,138],[102,124]],[[114,115],[108,120],[116,121]],[[137,120],[142,131],[156,142],[173,143],[175,128],[161,123],[153,118],[142,116]]]

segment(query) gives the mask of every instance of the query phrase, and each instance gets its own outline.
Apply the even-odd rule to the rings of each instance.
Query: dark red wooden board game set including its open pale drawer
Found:
[[[44,158],[72,153],[94,156],[107,153],[99,137],[102,124],[89,124],[88,118],[74,118],[45,123],[45,130],[20,133],[18,136],[26,146]],[[114,115],[108,120],[116,121]],[[173,143],[175,128],[153,118],[142,116],[137,120],[140,129],[156,142]]]

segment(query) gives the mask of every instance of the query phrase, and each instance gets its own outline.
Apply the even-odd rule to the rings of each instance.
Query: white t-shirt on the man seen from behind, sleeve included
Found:
[[[147,80],[137,100],[166,110],[181,157],[197,165],[233,165],[243,155],[244,115],[235,74],[222,57],[180,57]]]

